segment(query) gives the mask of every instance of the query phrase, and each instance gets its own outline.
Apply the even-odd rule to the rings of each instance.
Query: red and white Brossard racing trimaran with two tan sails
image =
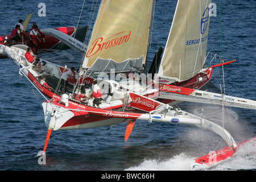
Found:
[[[77,73],[77,81],[67,93],[62,92],[67,85],[61,81],[63,73],[68,70],[66,67],[43,61],[45,73],[40,74],[24,58],[26,47],[1,46],[1,52],[18,65],[20,74],[26,76],[44,97],[50,98],[46,98],[47,101],[42,104],[48,127],[44,154],[52,130],[89,129],[128,122],[125,134],[127,140],[135,121],[140,120],[187,123],[220,135],[228,147],[217,151],[217,155],[193,160],[192,169],[229,158],[241,146],[227,130],[202,115],[197,116],[169,105],[172,101],[179,100],[256,109],[253,100],[198,90],[209,82],[214,67],[232,62],[203,68],[207,51],[210,1],[177,2],[158,75],[151,79],[151,75],[143,73],[143,69],[154,7],[155,1],[152,0],[102,1],[88,48]],[[69,39],[67,35],[58,35],[63,40]],[[76,45],[69,43],[73,48],[86,47],[82,43],[79,43],[80,46]],[[47,83],[53,90],[40,84],[42,75],[47,77]],[[93,80],[97,80],[101,88],[100,108],[93,107],[93,99],[89,99],[91,89],[86,88],[87,84],[93,87]],[[84,86],[85,89],[80,90]],[[80,92],[88,99],[77,97]]]

